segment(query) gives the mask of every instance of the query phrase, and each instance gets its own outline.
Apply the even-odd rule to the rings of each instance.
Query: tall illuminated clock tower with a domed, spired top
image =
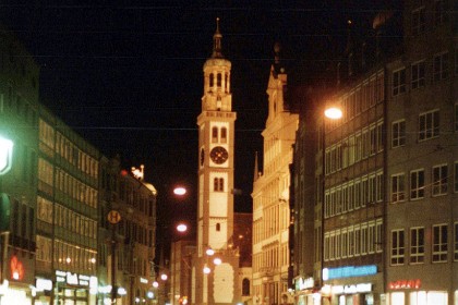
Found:
[[[233,234],[234,122],[231,62],[221,52],[219,19],[213,53],[203,68],[204,95],[198,125],[197,248],[194,304],[234,304],[238,255]]]

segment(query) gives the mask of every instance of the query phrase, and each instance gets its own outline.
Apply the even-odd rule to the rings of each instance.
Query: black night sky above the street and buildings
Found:
[[[216,17],[238,112],[236,210],[251,211],[274,44],[289,83],[313,83],[343,52],[346,21],[367,26],[378,2],[389,1],[10,0],[0,22],[41,66],[44,105],[125,169],[145,164],[168,231],[170,218],[195,218],[196,118]],[[189,186],[186,198],[170,195],[176,183]]]

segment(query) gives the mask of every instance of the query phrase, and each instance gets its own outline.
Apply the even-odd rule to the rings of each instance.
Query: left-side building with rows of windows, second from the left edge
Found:
[[[38,131],[36,273],[52,281],[43,304],[95,304],[100,154],[44,106]]]

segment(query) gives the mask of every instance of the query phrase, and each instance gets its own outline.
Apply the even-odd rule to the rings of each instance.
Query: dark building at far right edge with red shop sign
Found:
[[[458,304],[456,1],[405,1],[387,66],[387,303]]]

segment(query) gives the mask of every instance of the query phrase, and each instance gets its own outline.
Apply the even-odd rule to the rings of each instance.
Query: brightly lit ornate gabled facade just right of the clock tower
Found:
[[[289,111],[287,74],[279,62],[279,46],[267,85],[268,117],[264,137],[263,173],[253,183],[253,304],[292,303],[288,293],[289,166],[298,114]]]

